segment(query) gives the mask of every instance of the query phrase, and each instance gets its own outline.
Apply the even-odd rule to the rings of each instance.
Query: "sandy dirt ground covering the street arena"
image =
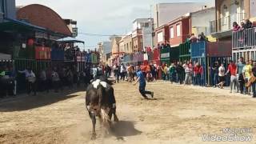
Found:
[[[118,118],[110,134],[97,123],[97,139],[90,140],[91,121],[85,91],[38,94],[0,102],[0,143],[214,143],[202,134],[222,129],[251,128],[256,143],[256,99],[228,90],[152,82],[154,100],[144,100],[138,86],[114,85]],[[225,143],[225,142],[218,142]]]

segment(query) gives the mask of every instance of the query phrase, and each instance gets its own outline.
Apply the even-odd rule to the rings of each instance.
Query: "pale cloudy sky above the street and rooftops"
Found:
[[[150,5],[159,2],[213,2],[214,0],[16,0],[16,6],[33,3],[55,10],[62,18],[78,21],[78,32],[89,34],[126,34],[135,18],[149,18]],[[153,16],[153,14],[152,14]],[[79,34],[86,49],[109,37]],[[91,48],[92,49],[92,48]]]

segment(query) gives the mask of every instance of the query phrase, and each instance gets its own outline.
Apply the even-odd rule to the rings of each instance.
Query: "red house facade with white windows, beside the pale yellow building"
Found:
[[[179,46],[190,36],[190,14],[174,19],[168,24],[170,30],[170,46]]]

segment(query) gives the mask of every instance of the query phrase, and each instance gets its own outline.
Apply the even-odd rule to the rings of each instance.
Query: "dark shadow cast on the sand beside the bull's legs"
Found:
[[[129,121],[119,121],[114,123],[111,126],[110,132],[118,139],[123,139],[122,137],[142,134],[142,131],[135,129],[134,122]]]

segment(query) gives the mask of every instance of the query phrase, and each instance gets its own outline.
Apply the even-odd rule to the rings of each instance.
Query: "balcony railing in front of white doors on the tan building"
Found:
[[[233,27],[233,22],[242,22],[242,20],[246,18],[245,13],[236,13],[231,14],[229,16],[220,18],[218,20],[214,20],[210,22],[210,33],[219,33],[227,30],[231,30]]]

